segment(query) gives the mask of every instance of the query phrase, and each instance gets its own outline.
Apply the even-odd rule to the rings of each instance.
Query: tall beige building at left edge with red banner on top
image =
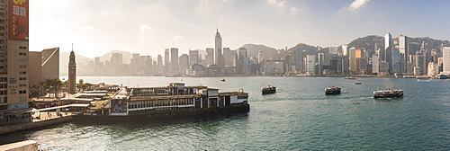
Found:
[[[4,0],[0,8],[0,111],[27,109],[29,1]]]

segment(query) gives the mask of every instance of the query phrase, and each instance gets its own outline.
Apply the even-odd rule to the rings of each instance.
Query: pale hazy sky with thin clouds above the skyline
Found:
[[[59,47],[100,57],[125,50],[156,58],[164,49],[298,43],[337,47],[358,37],[450,40],[447,0],[32,0],[30,50]]]

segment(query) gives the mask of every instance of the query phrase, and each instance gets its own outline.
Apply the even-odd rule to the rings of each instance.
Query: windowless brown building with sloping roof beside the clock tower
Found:
[[[30,51],[30,86],[51,78],[59,78],[59,48]]]

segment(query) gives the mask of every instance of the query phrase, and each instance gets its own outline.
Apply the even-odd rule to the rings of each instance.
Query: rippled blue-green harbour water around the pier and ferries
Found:
[[[62,78],[62,77],[61,77]],[[42,150],[425,150],[450,149],[450,80],[358,77],[85,76],[87,83],[207,85],[249,93],[250,111],[182,120],[63,123],[0,136],[0,144],[36,140]],[[225,78],[226,82],[220,82]],[[362,84],[354,84],[356,81]],[[261,94],[275,85],[277,93]],[[329,86],[339,95],[325,95]],[[373,98],[399,88],[398,99]]]

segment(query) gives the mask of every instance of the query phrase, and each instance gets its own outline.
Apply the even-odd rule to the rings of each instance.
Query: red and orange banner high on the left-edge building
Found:
[[[28,0],[9,0],[9,38],[28,40]]]

